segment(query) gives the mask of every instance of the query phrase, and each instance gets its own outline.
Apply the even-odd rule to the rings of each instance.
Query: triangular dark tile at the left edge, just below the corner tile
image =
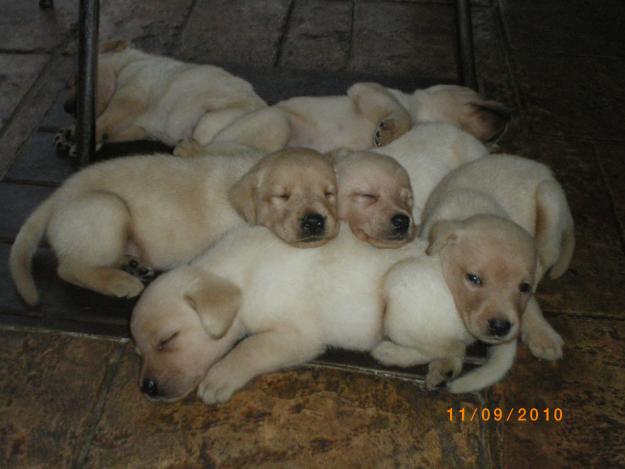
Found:
[[[0,54],[0,129],[37,79],[47,59],[43,54]]]

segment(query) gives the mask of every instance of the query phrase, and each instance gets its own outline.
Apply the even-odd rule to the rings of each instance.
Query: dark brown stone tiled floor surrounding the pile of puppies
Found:
[[[268,101],[342,93],[362,78],[404,89],[455,80],[445,0],[101,3],[103,39],[227,65]],[[73,171],[51,138],[70,122],[62,99],[77,2],[55,4],[1,5],[0,468],[625,466],[621,1],[473,2],[480,87],[515,109],[500,146],[549,164],[576,221],[571,270],[540,289],[564,359],[522,349],[494,389],[450,396],[339,354],[257,379],[220,407],[143,399],[125,338],[132,304],[62,284],[45,247],[41,307],[26,309],[8,278],[20,224]],[[471,421],[484,408],[490,419]]]

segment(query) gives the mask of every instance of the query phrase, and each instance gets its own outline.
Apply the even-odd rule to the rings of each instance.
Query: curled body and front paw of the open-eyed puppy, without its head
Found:
[[[493,155],[452,171],[426,203],[420,236],[436,235],[441,220],[461,221],[477,214],[508,219],[533,236],[539,259],[536,284],[547,271],[557,278],[567,270],[575,247],[573,218],[564,191],[545,165]],[[540,310],[524,317],[522,336],[535,356],[562,356],[562,338]]]

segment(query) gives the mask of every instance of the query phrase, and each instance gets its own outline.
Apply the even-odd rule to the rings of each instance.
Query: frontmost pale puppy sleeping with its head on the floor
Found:
[[[423,256],[426,246],[415,241],[377,249],[344,228],[332,242],[302,250],[279,242],[263,227],[237,227],[190,265],[157,278],[131,319],[143,359],[142,391],[151,399],[172,401],[199,385],[204,402],[224,402],[255,376],[304,364],[327,347],[367,351],[376,346],[385,307],[395,304],[382,295],[385,278],[402,261]],[[412,282],[402,276],[397,285]],[[413,311],[419,304],[413,296],[392,301]],[[442,306],[449,305],[453,310],[450,299]],[[475,340],[457,313],[455,318],[430,321],[430,330],[451,327],[452,336]],[[482,383],[474,384],[478,389]]]

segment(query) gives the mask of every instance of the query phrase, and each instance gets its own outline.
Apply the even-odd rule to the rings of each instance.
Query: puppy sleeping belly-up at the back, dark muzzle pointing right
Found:
[[[296,97],[275,107],[286,113],[291,124],[289,145],[322,153],[383,146],[412,126],[430,122],[447,122],[489,141],[510,118],[500,103],[454,85],[406,94],[376,83],[356,83],[345,96]]]

